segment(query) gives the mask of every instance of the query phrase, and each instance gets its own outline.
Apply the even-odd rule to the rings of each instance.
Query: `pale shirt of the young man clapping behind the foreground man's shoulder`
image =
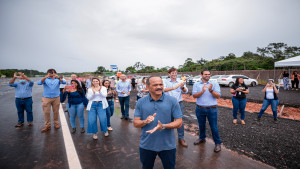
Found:
[[[166,88],[171,88],[171,87],[175,87],[178,83],[181,83],[182,81],[172,81],[171,79],[166,79],[164,81],[164,89]],[[181,90],[181,87],[179,86],[177,89],[175,90],[171,90],[171,91],[168,91],[168,92],[165,92],[166,95],[169,95],[169,96],[173,96],[177,99],[177,102],[180,102],[182,101],[182,93],[186,94],[188,92],[188,88],[186,87],[186,85],[184,85],[184,88],[186,88],[186,92],[183,92]]]

